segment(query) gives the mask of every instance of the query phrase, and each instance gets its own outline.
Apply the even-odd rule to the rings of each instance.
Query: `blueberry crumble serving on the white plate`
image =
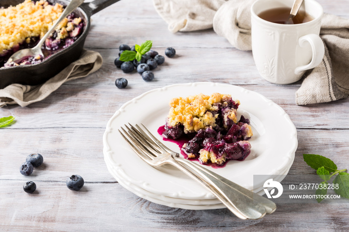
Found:
[[[182,152],[203,164],[221,166],[227,160],[244,160],[251,151],[247,140],[253,132],[248,118],[237,119],[239,105],[230,95],[218,93],[174,98],[163,136],[187,137]]]

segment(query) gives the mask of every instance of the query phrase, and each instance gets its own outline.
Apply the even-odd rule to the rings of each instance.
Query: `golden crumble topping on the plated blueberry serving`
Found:
[[[214,93],[211,96],[199,94],[186,98],[174,98],[170,102],[170,112],[168,116],[169,126],[177,124],[184,125],[184,132],[197,132],[199,129],[215,126],[218,117],[218,105],[228,106],[231,101],[230,95]],[[234,101],[239,105],[240,102]],[[237,122],[236,110],[229,109],[226,114],[234,123]]]

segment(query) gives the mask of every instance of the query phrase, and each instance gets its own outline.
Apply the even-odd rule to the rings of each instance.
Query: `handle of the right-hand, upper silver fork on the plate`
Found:
[[[276,210],[276,204],[272,201],[270,201],[269,199],[262,197],[256,193],[254,193],[253,191],[250,191],[210,170],[208,170],[207,168],[202,167],[201,165],[198,165],[196,163],[194,163],[193,161],[184,159],[184,158],[177,158],[174,157],[174,159],[177,162],[180,162],[182,165],[187,165],[190,166],[191,168],[195,169],[197,172],[204,172],[206,175],[209,175],[210,177],[216,179],[217,181],[221,181],[223,182],[227,188],[231,188],[232,191],[236,190],[246,196],[248,196],[251,199],[256,200],[257,202],[259,202],[261,205],[263,205],[267,211],[267,214],[271,214]]]

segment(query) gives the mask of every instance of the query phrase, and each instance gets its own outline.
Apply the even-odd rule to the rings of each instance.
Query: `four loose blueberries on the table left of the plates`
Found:
[[[19,171],[24,176],[29,176],[34,167],[38,167],[43,163],[42,155],[35,153],[26,157],[25,162],[20,165]],[[79,191],[84,186],[84,179],[79,175],[72,175],[68,177],[66,185],[68,189]],[[23,185],[23,190],[26,193],[33,193],[36,190],[36,184],[33,181],[27,181]]]

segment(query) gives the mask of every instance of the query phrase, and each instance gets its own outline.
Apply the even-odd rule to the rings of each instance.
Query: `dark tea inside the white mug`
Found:
[[[300,24],[313,20],[314,18],[307,14],[305,11],[298,11],[297,15],[291,19],[290,17],[291,8],[280,7],[267,9],[258,14],[258,16],[266,21],[279,23],[279,24]]]

